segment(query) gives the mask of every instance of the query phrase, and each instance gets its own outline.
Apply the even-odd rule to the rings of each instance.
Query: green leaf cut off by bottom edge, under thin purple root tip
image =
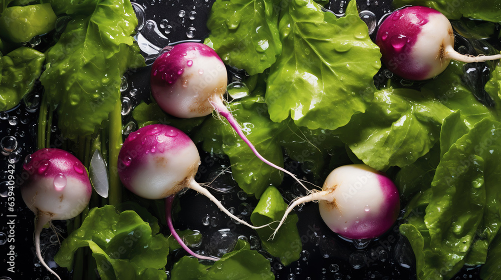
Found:
[[[198,259],[183,256],[171,271],[176,280],[267,280],[275,279],[270,261],[247,242],[239,239],[233,251],[224,254],[213,265],[205,265]]]

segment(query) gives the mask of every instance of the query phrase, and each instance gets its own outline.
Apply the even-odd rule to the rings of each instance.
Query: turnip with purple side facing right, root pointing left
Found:
[[[319,200],[320,215],[327,226],[350,239],[383,234],[400,210],[398,190],[384,173],[365,164],[344,165],[327,176],[322,191],[293,201],[271,238],[295,206],[313,200]]]

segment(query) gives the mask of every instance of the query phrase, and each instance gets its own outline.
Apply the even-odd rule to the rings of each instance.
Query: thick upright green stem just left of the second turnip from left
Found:
[[[117,99],[115,108],[110,112],[110,125],[109,125],[109,175],[110,175],[110,191],[109,202],[111,205],[118,205],[122,198],[122,185],[118,177],[118,153],[122,147],[122,100]]]

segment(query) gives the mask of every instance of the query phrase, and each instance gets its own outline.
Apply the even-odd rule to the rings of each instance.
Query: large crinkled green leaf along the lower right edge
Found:
[[[450,128],[443,127],[443,134],[461,126],[467,133],[452,144],[441,142],[440,148],[446,152],[426,191],[427,200],[422,203],[427,204],[425,212],[408,213],[411,218],[401,226],[416,260],[420,259],[419,279],[448,279],[463,264],[485,262],[487,248],[501,224],[501,194],[497,190],[501,180],[501,123],[485,118],[465,129],[463,121],[451,116],[451,121],[444,122]]]

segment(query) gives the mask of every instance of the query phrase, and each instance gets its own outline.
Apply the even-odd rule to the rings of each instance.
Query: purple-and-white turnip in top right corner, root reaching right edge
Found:
[[[441,73],[450,59],[479,62],[501,54],[471,56],[454,50],[449,20],[439,11],[422,6],[398,9],[384,19],[376,35],[383,63],[398,76],[425,80]]]

